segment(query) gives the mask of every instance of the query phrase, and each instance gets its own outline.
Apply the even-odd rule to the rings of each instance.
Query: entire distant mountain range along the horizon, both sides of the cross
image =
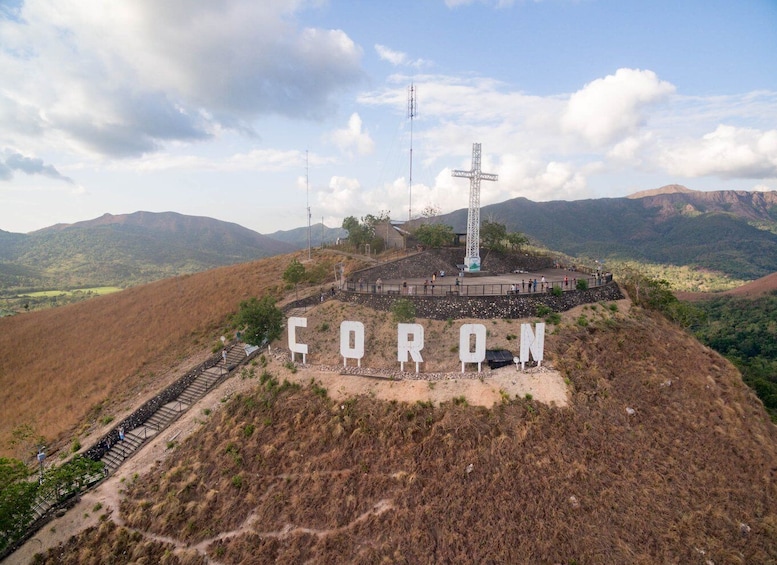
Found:
[[[505,224],[573,257],[691,265],[753,280],[777,271],[777,192],[669,185],[626,198],[484,206]],[[467,210],[435,218],[465,232]],[[334,242],[322,224],[262,235],[234,223],[175,212],[105,214],[29,234],[0,230],[0,291],[132,286]]]

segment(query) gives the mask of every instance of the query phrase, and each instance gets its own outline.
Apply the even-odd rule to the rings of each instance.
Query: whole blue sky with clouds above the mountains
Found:
[[[446,213],[473,143],[482,205],[777,190],[777,0],[0,0],[1,230]]]

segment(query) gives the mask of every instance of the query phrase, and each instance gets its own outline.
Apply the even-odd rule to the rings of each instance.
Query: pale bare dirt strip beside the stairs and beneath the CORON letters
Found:
[[[336,401],[359,395],[367,395],[382,400],[397,400],[414,403],[431,401],[435,404],[464,397],[468,404],[490,407],[504,399],[525,397],[530,394],[534,400],[548,405],[564,407],[567,405],[567,388],[561,375],[550,368],[534,368],[520,372],[515,367],[505,367],[497,371],[484,373],[477,378],[472,373],[461,375],[449,373],[447,378],[427,380],[389,380],[355,375],[343,375],[337,371],[325,371],[314,368],[300,368],[292,373],[284,366],[282,356],[271,359],[269,370],[279,379],[288,379],[303,385],[315,379],[325,387],[331,398]],[[64,516],[55,518],[44,526],[32,539],[24,544],[5,563],[21,565],[29,563],[36,553],[47,551],[71,536],[78,534],[99,522],[100,516],[107,514],[119,525],[123,521],[119,516],[119,503],[125,484],[137,476],[149,471],[151,467],[164,460],[171,453],[168,444],[181,441],[194,433],[207,419],[206,412],[215,412],[223,406],[222,399],[257,386],[256,379],[232,376],[219,387],[208,393],[195,406],[176,420],[169,428],[160,432],[143,446],[132,458],[127,460],[114,475],[94,490],[84,494],[81,500]],[[369,513],[380,513],[384,507],[374,508]],[[250,520],[249,520],[250,522]],[[247,526],[247,524],[246,524]],[[144,536],[157,539],[146,532]],[[286,532],[287,533],[287,532]],[[224,533],[219,538],[229,537],[235,532]],[[284,532],[277,532],[282,535]],[[218,538],[208,540],[215,541]],[[169,538],[160,541],[173,542],[183,549],[185,544]],[[204,554],[206,545],[199,544],[197,550]],[[188,549],[191,549],[188,548]]]

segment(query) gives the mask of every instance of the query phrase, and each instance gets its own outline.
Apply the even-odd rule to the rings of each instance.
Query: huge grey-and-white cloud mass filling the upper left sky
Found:
[[[258,116],[322,118],[361,80],[341,30],[293,24],[301,1],[28,0],[0,20],[0,130],[139,155]]]

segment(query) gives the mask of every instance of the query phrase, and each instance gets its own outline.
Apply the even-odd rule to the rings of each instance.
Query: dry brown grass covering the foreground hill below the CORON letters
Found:
[[[569,409],[260,387],[122,516],[224,563],[777,560],[777,431],[730,364],[648,315],[548,347]]]

